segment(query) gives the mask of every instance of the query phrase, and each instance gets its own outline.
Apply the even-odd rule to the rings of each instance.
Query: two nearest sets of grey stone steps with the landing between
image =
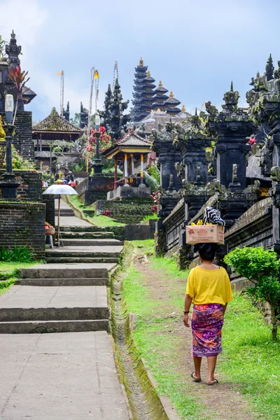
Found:
[[[0,297],[0,333],[109,330],[106,286],[116,264],[41,264]]]

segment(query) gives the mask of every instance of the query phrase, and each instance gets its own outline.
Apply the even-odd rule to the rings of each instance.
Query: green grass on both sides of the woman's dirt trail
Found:
[[[141,255],[153,252],[153,241],[133,241],[133,244]],[[178,314],[183,311],[186,286],[176,280],[186,279],[187,273],[180,271],[172,258],[152,256],[148,264],[159,276],[162,273],[171,276],[174,288],[167,290],[169,300],[157,299],[156,290],[152,294],[151,288],[145,285],[144,275],[130,267],[123,293],[127,309],[137,315],[136,329],[132,332],[137,349],[158,382],[158,391],[170,398],[181,419],[207,420],[209,410],[192,395],[193,388],[177,357],[182,337],[170,334],[181,322],[182,316]],[[175,312],[173,318],[167,316],[167,302]],[[279,365],[280,343],[272,341],[269,326],[251,300],[235,295],[225,316],[223,353],[218,358],[217,370],[222,382],[230,384],[233,392],[246,394],[248,408],[253,408],[251,414],[255,418],[280,419]]]

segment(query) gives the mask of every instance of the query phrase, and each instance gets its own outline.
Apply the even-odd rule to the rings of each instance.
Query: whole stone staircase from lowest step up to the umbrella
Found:
[[[109,330],[109,273],[123,251],[123,227],[80,221],[62,203],[62,244],[47,264],[21,270],[0,296],[0,333]]]

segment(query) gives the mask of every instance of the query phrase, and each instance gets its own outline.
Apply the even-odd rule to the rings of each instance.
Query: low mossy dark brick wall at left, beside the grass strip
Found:
[[[45,204],[0,202],[0,248],[14,246],[45,258]]]

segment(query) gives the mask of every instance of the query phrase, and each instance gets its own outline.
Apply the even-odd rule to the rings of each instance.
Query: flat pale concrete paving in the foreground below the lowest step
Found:
[[[129,420],[111,337],[0,335],[0,420]]]

